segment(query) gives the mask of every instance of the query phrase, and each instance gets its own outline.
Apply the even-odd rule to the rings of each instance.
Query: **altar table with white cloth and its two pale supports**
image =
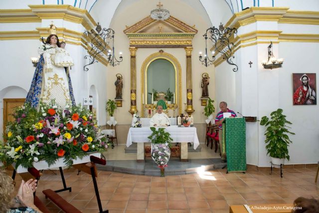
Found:
[[[144,143],[150,142],[150,139],[148,139],[148,137],[152,134],[150,127],[151,126],[143,126],[141,128],[131,127],[129,130],[126,146],[131,146],[132,142],[137,143],[138,161],[144,160]],[[169,126],[160,128],[165,128],[166,131],[170,133],[170,137],[173,139],[173,143],[181,143],[181,160],[187,160],[187,143],[192,143],[194,149],[196,149],[199,145],[196,127]]]

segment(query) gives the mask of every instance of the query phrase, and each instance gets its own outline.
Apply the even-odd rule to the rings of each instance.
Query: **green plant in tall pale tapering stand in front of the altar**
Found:
[[[164,177],[165,167],[170,157],[170,147],[173,139],[165,128],[151,127],[152,135],[148,137],[151,140],[152,159],[160,168],[160,177]]]

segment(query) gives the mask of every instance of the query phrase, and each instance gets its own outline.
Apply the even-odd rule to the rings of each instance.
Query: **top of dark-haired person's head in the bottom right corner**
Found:
[[[292,213],[319,213],[319,200],[299,197],[294,201]]]

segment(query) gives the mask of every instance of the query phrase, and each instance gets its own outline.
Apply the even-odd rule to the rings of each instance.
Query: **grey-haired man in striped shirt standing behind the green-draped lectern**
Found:
[[[223,129],[222,129],[222,123],[225,120],[224,113],[229,113],[229,117],[237,117],[236,113],[230,109],[227,108],[227,103],[225,101],[220,102],[219,104],[220,112],[217,113],[215,118],[215,124],[218,125],[219,131],[218,131],[218,138],[219,138],[219,147],[220,147],[220,153],[221,153],[221,159],[222,161],[226,161],[226,150],[223,149]]]

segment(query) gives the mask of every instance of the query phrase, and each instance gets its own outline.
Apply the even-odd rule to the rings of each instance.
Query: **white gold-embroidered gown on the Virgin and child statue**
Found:
[[[64,69],[74,65],[69,53],[60,47],[44,51],[39,49],[39,53],[43,53],[44,59],[40,100],[44,103],[55,100],[61,108],[71,105],[68,77]]]

